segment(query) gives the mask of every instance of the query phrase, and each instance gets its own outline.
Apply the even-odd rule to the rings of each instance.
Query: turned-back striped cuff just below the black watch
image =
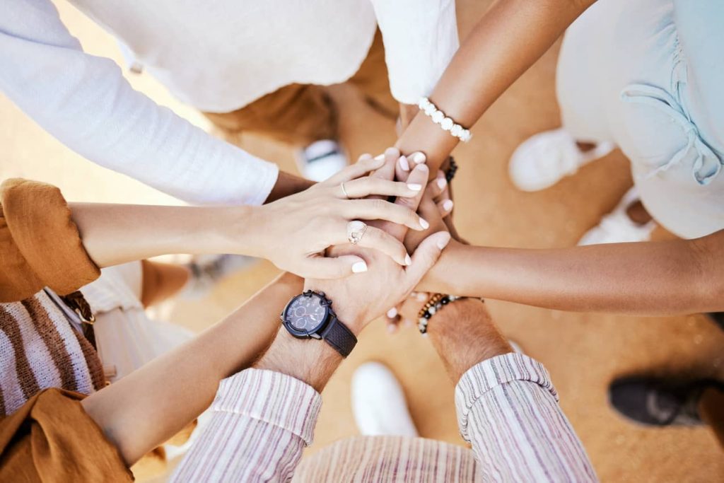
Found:
[[[279,427],[311,445],[321,395],[281,372],[245,369],[222,380],[211,411],[235,413]]]

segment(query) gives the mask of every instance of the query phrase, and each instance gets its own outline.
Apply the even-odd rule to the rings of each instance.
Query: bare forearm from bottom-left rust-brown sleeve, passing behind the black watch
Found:
[[[85,411],[134,463],[208,407],[221,379],[253,364],[276,335],[285,303],[301,290],[298,277],[282,275],[223,322],[90,395]]]

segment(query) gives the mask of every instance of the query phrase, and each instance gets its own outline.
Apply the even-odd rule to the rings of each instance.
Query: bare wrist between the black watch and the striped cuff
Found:
[[[255,366],[287,374],[321,392],[340,362],[342,356],[324,340],[297,339],[282,328]]]

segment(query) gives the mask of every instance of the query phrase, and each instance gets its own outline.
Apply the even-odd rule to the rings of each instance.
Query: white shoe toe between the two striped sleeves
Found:
[[[417,437],[405,392],[382,363],[366,362],[352,376],[352,412],[365,436]]]

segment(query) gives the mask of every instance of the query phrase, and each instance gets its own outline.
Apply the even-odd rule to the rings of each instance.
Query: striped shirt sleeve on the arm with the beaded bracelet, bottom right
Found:
[[[473,366],[455,388],[455,406],[486,481],[597,481],[539,362],[508,353]]]

